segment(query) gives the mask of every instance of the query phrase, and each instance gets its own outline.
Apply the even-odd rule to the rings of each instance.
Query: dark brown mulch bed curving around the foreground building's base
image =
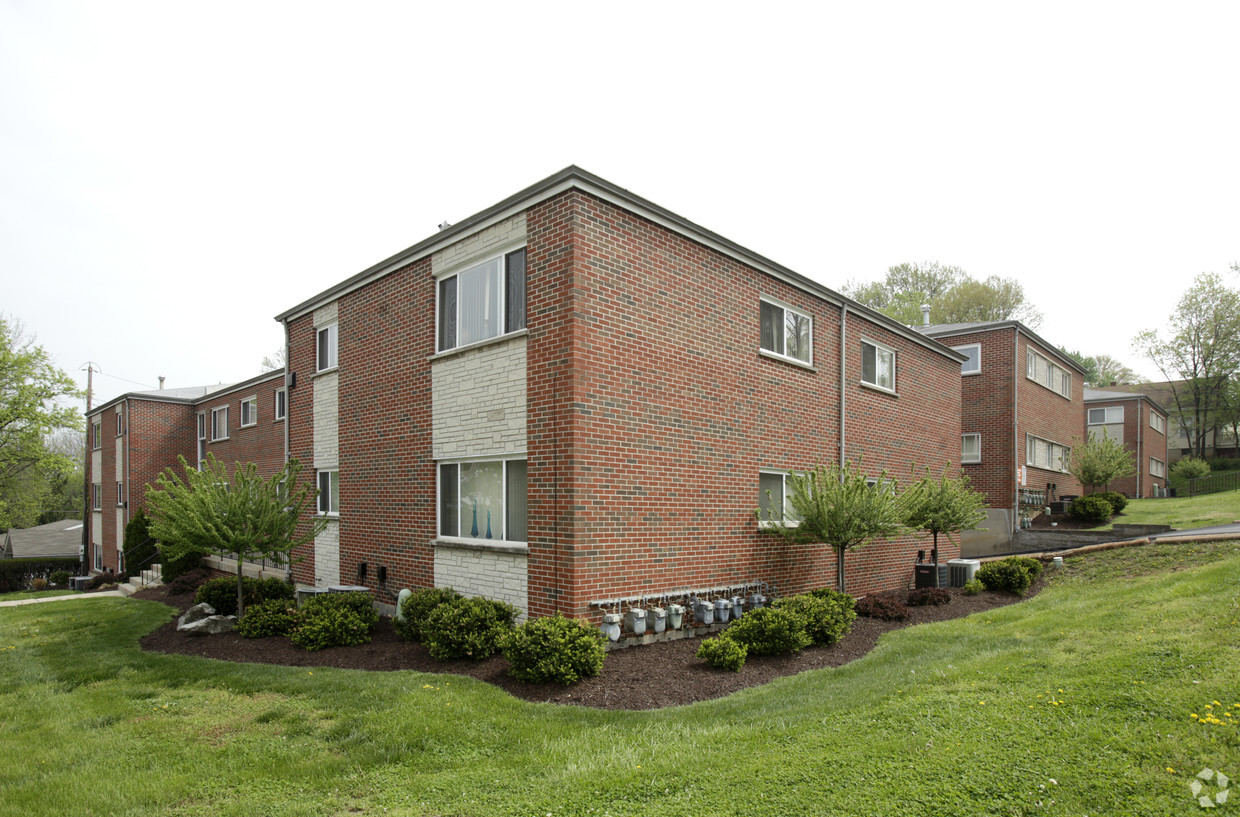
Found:
[[[1039,579],[1024,598],[1034,595],[1042,586],[1043,581]],[[162,601],[176,607],[177,615],[193,604],[191,594],[170,595],[166,588],[140,590],[134,598]],[[141,646],[144,650],[156,652],[289,667],[453,673],[485,681],[525,700],[577,704],[598,709],[657,709],[722,698],[739,689],[756,687],[807,669],[838,667],[873,650],[884,632],[916,624],[959,619],[1021,600],[1009,594],[983,591],[976,596],[967,596],[960,590],[951,590],[950,604],[909,607],[906,621],[858,617],[848,635],[833,646],[811,647],[787,656],[750,657],[740,672],[707,666],[696,656],[701,643],[698,638],[615,650],[608,653],[599,677],[588,678],[572,687],[515,681],[507,676],[508,662],[502,656],[492,656],[479,662],[432,658],[420,643],[401,641],[392,629],[392,621],[386,617],[379,619],[371,643],[330,647],[317,652],[306,652],[281,637],[242,638],[234,632],[217,636],[185,635],[176,631],[175,619],[145,636]]]

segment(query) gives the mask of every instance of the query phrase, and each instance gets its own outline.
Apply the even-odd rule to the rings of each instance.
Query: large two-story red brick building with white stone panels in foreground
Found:
[[[962,355],[577,167],[277,320],[286,371],[176,403],[185,428],[167,436],[193,451],[223,400],[236,417],[252,395],[263,425],[286,383],[286,443],[255,456],[298,457],[330,519],[293,578],[388,604],[453,585],[582,616],[682,589],[832,585],[827,547],[756,518],[782,507],[789,470],[960,464]],[[906,585],[918,550],[928,537],[851,553],[849,589]]]

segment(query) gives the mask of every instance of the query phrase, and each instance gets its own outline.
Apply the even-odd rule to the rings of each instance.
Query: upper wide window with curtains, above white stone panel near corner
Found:
[[[525,327],[525,249],[439,279],[439,351]]]

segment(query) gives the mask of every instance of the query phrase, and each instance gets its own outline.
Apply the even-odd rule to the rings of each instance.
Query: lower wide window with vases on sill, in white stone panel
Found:
[[[526,461],[440,462],[439,534],[526,542]]]

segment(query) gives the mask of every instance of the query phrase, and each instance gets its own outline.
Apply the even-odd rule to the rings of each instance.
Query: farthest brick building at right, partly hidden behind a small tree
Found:
[[[1130,498],[1166,495],[1167,410],[1149,395],[1085,389],[1085,429],[1090,436],[1102,434],[1132,451],[1137,472],[1111,482],[1111,491]]]

